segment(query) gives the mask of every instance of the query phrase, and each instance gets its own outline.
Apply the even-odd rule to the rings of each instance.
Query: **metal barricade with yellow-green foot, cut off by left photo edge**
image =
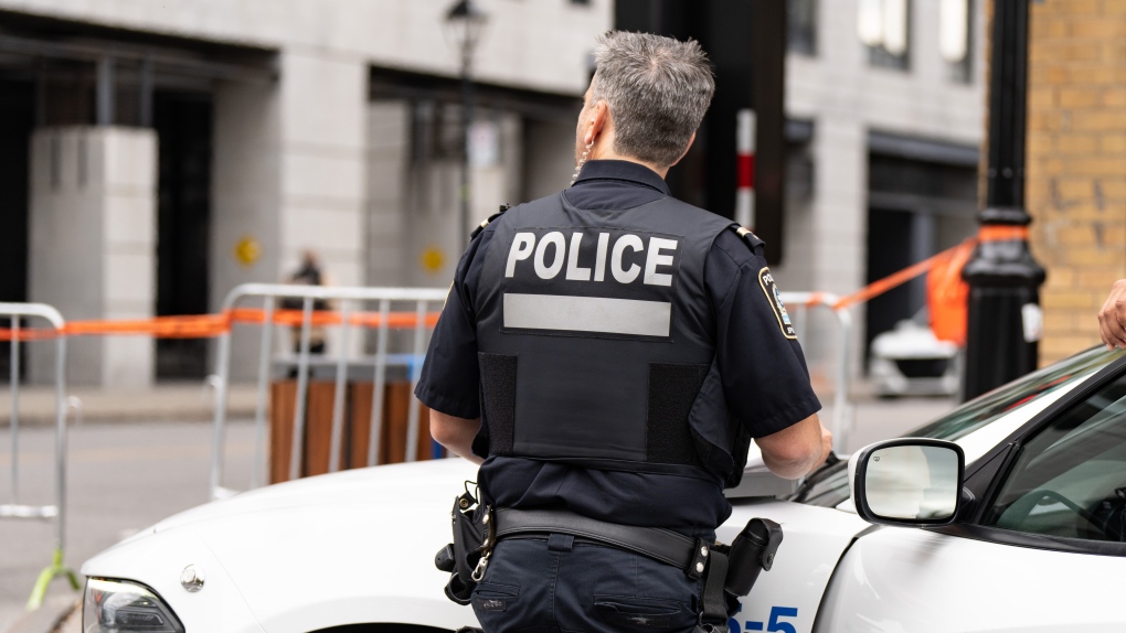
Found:
[[[79,589],[74,571],[63,563],[63,549],[66,535],[66,338],[63,334],[65,320],[59,310],[44,304],[3,304],[0,302],[0,316],[11,318],[9,328],[10,345],[10,397],[11,422],[9,425],[9,445],[11,451],[11,472],[9,503],[0,505],[0,518],[39,519],[55,522],[55,543],[51,564],[39,572],[39,577],[27,600],[28,611],[38,608],[47,593],[51,581],[60,576],[70,581],[71,587]],[[19,499],[19,374],[20,343],[37,337],[32,331],[23,332],[21,318],[41,318],[51,328],[36,329],[36,335],[46,333],[54,338],[55,345],[55,499],[53,505],[36,506],[21,504]]]

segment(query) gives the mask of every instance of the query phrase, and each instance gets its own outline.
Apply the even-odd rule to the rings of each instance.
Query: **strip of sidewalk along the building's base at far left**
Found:
[[[69,388],[68,396],[81,400],[84,422],[207,422],[215,416],[215,391],[203,382],[157,385],[148,389],[79,386]],[[227,397],[227,416],[252,417],[256,399],[254,385],[232,385]],[[10,417],[10,412],[11,396],[8,386],[3,385],[0,389],[0,423]],[[74,421],[74,414],[70,415]],[[19,422],[27,425],[54,424],[54,387],[20,387]]]

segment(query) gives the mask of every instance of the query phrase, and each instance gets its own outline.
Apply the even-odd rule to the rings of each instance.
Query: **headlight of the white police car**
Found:
[[[127,580],[88,578],[82,598],[83,633],[184,633],[184,626],[152,589]]]

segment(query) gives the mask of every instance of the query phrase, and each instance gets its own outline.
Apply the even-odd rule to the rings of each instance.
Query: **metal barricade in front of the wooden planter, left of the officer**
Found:
[[[269,365],[274,343],[275,313],[278,309],[279,298],[301,299],[301,338],[297,353],[297,396],[294,407],[293,443],[289,456],[289,479],[296,479],[301,473],[301,456],[303,438],[305,434],[305,413],[307,405],[307,389],[310,380],[310,341],[313,324],[313,306],[318,300],[339,301],[336,311],[340,316],[340,353],[337,354],[336,368],[336,390],[333,394],[332,426],[329,449],[329,472],[339,470],[340,446],[343,433],[343,410],[345,410],[345,388],[347,380],[348,349],[350,336],[355,328],[354,315],[356,304],[361,306],[366,302],[377,302],[378,318],[376,320],[376,343],[375,358],[372,363],[373,389],[372,389],[372,419],[370,438],[367,450],[367,465],[375,465],[379,453],[379,436],[383,426],[383,399],[386,386],[386,370],[388,361],[388,329],[392,320],[392,302],[413,302],[413,344],[412,344],[412,371],[410,372],[411,387],[415,386],[419,378],[421,359],[426,354],[426,331],[427,331],[427,308],[430,304],[441,304],[446,300],[445,289],[430,288],[347,288],[347,287],[324,287],[324,286],[291,286],[278,283],[245,283],[239,286],[227,293],[223,301],[225,314],[235,310],[240,301],[259,297],[263,300],[262,329],[260,333],[260,349],[258,358],[258,385],[257,401],[254,406],[254,456],[253,470],[251,472],[251,487],[261,485],[260,476],[265,470],[265,444],[266,444],[266,398],[269,382]],[[231,378],[231,331],[227,329],[218,340],[218,354],[216,359],[216,381],[215,381],[215,425],[212,451],[212,468],[209,491],[211,498],[217,499],[230,496],[233,490],[223,488],[223,456],[226,426],[226,401]],[[408,413],[406,431],[406,460],[413,461],[420,442],[419,433],[419,403],[417,398],[410,399]]]

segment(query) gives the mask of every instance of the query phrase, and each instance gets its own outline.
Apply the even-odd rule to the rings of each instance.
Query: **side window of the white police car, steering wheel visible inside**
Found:
[[[1126,376],[1025,443],[983,524],[1126,542]]]

